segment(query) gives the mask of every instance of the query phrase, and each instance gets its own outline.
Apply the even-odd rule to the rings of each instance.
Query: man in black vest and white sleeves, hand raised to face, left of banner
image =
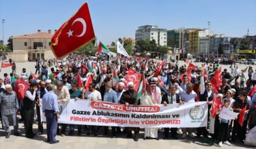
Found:
[[[32,131],[32,125],[34,122],[34,106],[36,99],[36,91],[38,87],[36,83],[32,83],[30,88],[25,92],[25,98],[23,100],[23,117],[24,117],[24,126],[27,138],[33,138],[34,133]]]

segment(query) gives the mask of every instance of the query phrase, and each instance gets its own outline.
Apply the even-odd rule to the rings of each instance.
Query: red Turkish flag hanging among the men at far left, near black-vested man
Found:
[[[23,98],[25,97],[25,92],[27,91],[27,89],[29,89],[29,87],[29,83],[21,80],[21,78],[17,78],[14,91],[19,100],[23,100]]]

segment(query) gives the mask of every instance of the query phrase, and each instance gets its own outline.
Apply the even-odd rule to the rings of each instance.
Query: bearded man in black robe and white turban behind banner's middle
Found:
[[[124,91],[122,97],[120,98],[120,104],[125,104],[125,106],[137,105],[138,101],[136,101],[137,91],[134,91],[134,83],[127,83],[128,90]],[[127,130],[127,138],[131,138],[132,132],[134,131],[134,141],[138,141],[138,133],[140,132],[140,128],[126,128]]]

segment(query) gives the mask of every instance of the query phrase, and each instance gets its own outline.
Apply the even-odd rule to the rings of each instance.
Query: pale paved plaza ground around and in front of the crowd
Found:
[[[16,63],[17,66],[17,73],[20,74],[23,67],[27,69],[27,73],[35,73],[35,62],[24,62],[24,63]],[[179,65],[183,65],[184,62],[179,62]],[[201,65],[201,63],[196,63],[196,65]],[[238,64],[238,67],[240,69],[245,69],[248,65],[241,65]],[[230,72],[229,65],[222,65],[223,69],[227,69]],[[256,69],[256,65],[253,65],[253,70]],[[10,73],[11,68],[4,68],[1,70],[0,78],[3,78],[4,73]],[[247,76],[248,77],[248,76]],[[1,127],[1,125],[0,125]],[[34,133],[37,133],[38,126],[37,124],[33,125]],[[44,124],[44,132],[46,133],[46,125]],[[13,129],[13,127],[11,127]],[[46,135],[36,135],[34,139],[27,139],[25,137],[25,130],[23,123],[19,123],[19,131],[21,133],[20,137],[16,137],[14,135],[10,135],[9,139],[5,139],[5,132],[3,130],[0,130],[0,148],[6,148],[6,149],[14,149],[14,148],[103,148],[103,149],[114,149],[114,148],[154,148],[154,149],[160,149],[160,148],[173,148],[173,149],[183,149],[183,148],[219,148],[218,146],[212,146],[211,144],[201,143],[198,139],[187,137],[187,139],[181,139],[181,133],[179,133],[179,139],[174,140],[172,138],[168,140],[163,140],[163,134],[160,131],[159,132],[159,138],[160,140],[143,140],[144,132],[140,132],[139,135],[139,141],[134,142],[133,139],[126,139],[125,134],[120,134],[116,138],[111,138],[110,136],[103,137],[99,135],[99,137],[86,137],[86,132],[83,130],[82,136],[77,136],[77,131],[75,131],[75,134],[73,136],[68,136],[68,128],[66,130],[66,136],[61,137],[60,135],[57,135],[57,140],[60,141],[60,143],[57,144],[49,144],[46,143]],[[141,130],[142,131],[142,130]],[[101,131],[103,132],[103,131]],[[101,133],[100,133],[101,134]],[[194,135],[195,136],[195,135]],[[195,136],[196,137],[196,136]],[[244,146],[242,144],[235,144],[233,146],[227,146],[223,144],[222,148],[252,148],[250,146]]]

